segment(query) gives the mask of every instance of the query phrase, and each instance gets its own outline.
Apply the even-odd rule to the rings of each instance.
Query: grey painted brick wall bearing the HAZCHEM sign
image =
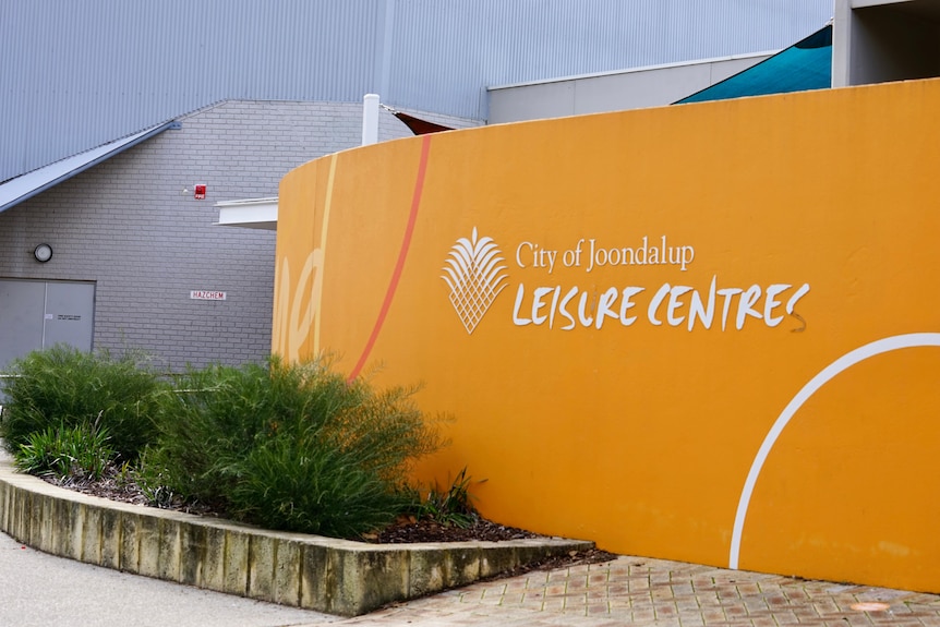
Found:
[[[0,214],[0,278],[95,281],[95,348],[141,348],[170,371],[262,360],[275,233],[213,226],[214,205],[276,196],[290,169],[358,145],[361,114],[355,104],[242,100],[196,111]],[[408,135],[383,112],[382,140]],[[193,198],[194,183],[208,186],[206,200]],[[39,242],[55,250],[47,264],[33,260]],[[201,289],[227,300],[190,300]]]

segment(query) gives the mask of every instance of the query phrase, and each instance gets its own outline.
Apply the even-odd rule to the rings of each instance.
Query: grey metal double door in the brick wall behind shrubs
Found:
[[[62,342],[92,350],[95,284],[0,279],[0,370]]]

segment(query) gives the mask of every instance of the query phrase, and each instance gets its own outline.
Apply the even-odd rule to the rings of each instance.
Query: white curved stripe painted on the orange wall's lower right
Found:
[[[940,333],[912,333],[907,335],[896,335],[867,343],[842,355],[829,364],[824,370],[822,370],[822,372],[817,374],[809,383],[803,386],[803,389],[793,397],[793,400],[790,401],[783,410],[783,413],[780,414],[776,422],[773,423],[773,426],[763,438],[763,444],[760,445],[760,449],[757,451],[757,456],[755,456],[754,462],[750,465],[750,472],[747,473],[747,480],[744,482],[744,489],[740,491],[740,499],[738,499],[737,503],[737,513],[734,516],[734,531],[731,536],[731,552],[727,558],[728,568],[737,569],[738,557],[740,556],[740,538],[744,532],[744,521],[745,517],[747,517],[747,508],[750,505],[750,496],[751,493],[754,493],[754,486],[757,483],[757,478],[760,475],[760,470],[763,468],[763,462],[767,460],[767,456],[770,454],[770,450],[773,448],[773,445],[776,443],[776,438],[780,436],[783,429],[790,422],[790,419],[793,418],[809,397],[816,394],[820,387],[825,385],[831,378],[844,370],[852,367],[856,363],[866,360],[869,357],[875,357],[892,350],[918,346],[940,347]]]

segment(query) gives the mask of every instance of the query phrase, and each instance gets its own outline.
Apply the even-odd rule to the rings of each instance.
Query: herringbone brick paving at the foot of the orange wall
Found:
[[[622,556],[475,583],[330,624],[940,627],[940,595]]]

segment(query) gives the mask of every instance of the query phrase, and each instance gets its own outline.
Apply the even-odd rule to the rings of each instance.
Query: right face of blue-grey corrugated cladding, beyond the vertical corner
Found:
[[[399,1],[388,97],[485,119],[487,85],[775,50],[831,16],[830,0]]]

